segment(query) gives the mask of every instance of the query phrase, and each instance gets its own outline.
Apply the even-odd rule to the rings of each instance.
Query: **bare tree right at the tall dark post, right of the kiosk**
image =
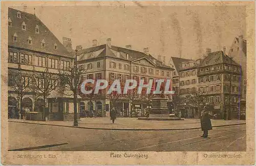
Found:
[[[79,94],[80,85],[83,82],[82,75],[86,72],[83,67],[72,67],[66,68],[66,70],[61,70],[59,72],[59,79],[62,81],[61,86],[65,86],[68,90],[73,92],[74,96],[74,126],[78,126],[77,121],[77,94]],[[60,86],[60,87],[61,87]]]

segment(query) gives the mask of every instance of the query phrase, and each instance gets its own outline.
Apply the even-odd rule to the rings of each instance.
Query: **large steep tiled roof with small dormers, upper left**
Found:
[[[20,12],[20,18],[17,17],[17,12]],[[8,27],[9,46],[71,57],[65,46],[35,15],[8,8],[8,19],[12,22],[12,26]],[[22,30],[23,22],[26,24],[26,31]],[[36,33],[36,26],[39,28],[39,34]],[[13,41],[14,34],[17,35],[17,41]],[[28,44],[29,37],[32,39],[32,44]],[[41,46],[42,40],[45,41],[45,47]],[[57,49],[54,49],[54,44],[57,45]]]

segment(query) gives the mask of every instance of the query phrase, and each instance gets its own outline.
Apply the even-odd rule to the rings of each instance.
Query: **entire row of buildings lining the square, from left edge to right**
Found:
[[[241,55],[242,53],[244,55]],[[202,103],[212,104],[217,112],[223,112],[230,97],[231,105],[236,111],[238,107],[235,104],[242,99],[245,100],[246,96],[246,61],[245,64],[244,60],[242,64],[239,61],[242,56],[246,57],[246,40],[241,36],[235,38],[228,54],[229,56],[226,55],[225,49],[214,53],[207,49],[202,59],[171,57],[166,64],[165,57],[153,57],[149,54],[148,48],[143,52],[132,50],[132,45],[121,48],[112,45],[111,38],[107,39],[106,44],[101,45],[97,44],[97,40],[93,40],[91,48],[80,48],[75,53],[70,38],[63,37],[61,43],[35,15],[9,8],[8,105],[39,111],[43,103],[42,98],[37,98],[34,91],[27,90],[20,101],[11,86],[15,85],[19,77],[30,78],[44,70],[57,76],[60,70],[73,66],[77,56],[78,65],[87,69],[83,78],[106,79],[110,82],[115,79],[121,82],[127,79],[143,79],[145,82],[150,79],[173,80],[173,90],[176,91],[175,95],[179,96],[179,100],[170,97],[169,100],[173,102],[170,109],[182,110],[183,114],[186,110],[187,116],[197,116],[196,105],[189,101],[188,96],[198,88],[207,91],[207,98]],[[111,100],[100,94],[94,96],[93,100],[89,98],[79,98],[80,111],[95,110],[103,116],[108,115]],[[53,92],[47,103],[50,112],[74,112],[72,96],[65,93]],[[115,107],[123,115],[129,115],[131,110],[143,114],[149,105],[145,104],[143,97],[140,96],[133,103],[133,109],[131,101],[127,98],[120,98]]]

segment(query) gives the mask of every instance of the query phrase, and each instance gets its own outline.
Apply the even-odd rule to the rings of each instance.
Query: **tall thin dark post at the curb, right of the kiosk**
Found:
[[[77,121],[77,49],[75,50],[75,76],[74,76],[74,126],[78,126]]]

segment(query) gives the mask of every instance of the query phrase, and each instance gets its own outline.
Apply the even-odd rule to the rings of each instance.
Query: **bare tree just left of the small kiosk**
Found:
[[[46,99],[56,87],[57,76],[49,73],[47,69],[45,69],[44,72],[37,72],[33,75],[32,89],[38,92],[44,99],[44,111],[42,112],[43,120],[45,120]]]

